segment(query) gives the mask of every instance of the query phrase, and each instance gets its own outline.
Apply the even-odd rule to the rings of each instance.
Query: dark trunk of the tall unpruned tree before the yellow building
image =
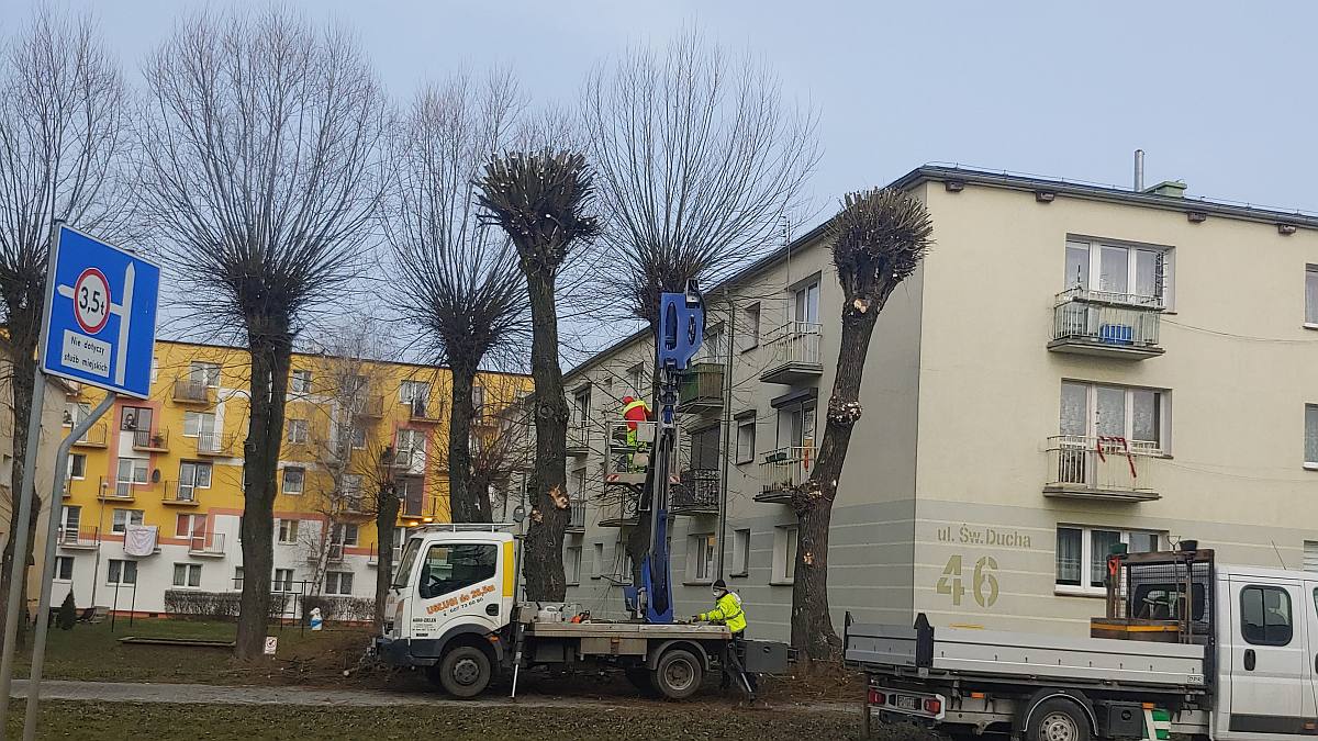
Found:
[[[243,468],[243,603],[233,654],[252,661],[261,655],[270,612],[270,575],[274,568],[275,472],[283,442],[283,405],[289,393],[293,338],[287,320],[248,319],[252,353],[252,414]]]

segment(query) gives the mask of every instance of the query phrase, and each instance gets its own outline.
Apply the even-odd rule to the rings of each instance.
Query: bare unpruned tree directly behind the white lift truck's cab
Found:
[[[489,496],[472,481],[476,374],[505,360],[494,356],[515,347],[526,326],[517,252],[477,223],[474,185],[519,105],[501,73],[478,87],[456,75],[422,88],[398,129],[397,198],[382,222],[397,265],[394,303],[452,373],[445,459],[455,522],[490,521]]]

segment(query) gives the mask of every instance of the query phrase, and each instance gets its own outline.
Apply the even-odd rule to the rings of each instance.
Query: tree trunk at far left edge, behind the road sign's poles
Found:
[[[42,281],[43,282],[43,281]],[[36,301],[36,303],[33,303]],[[41,323],[41,305],[42,305],[41,291],[28,291],[26,297],[20,301],[9,302],[9,347],[13,353],[9,359],[12,378],[9,381],[9,388],[13,393],[13,469],[9,473],[9,527],[8,537],[5,538],[4,558],[0,559],[0,608],[8,604],[9,589],[12,584],[9,583],[9,568],[13,564],[14,558],[21,558],[24,566],[22,580],[18,584],[18,614],[22,620],[18,621],[18,645],[26,642],[28,633],[28,566],[32,563],[32,554],[36,548],[36,535],[37,535],[37,519],[41,516],[41,497],[33,494],[32,500],[32,517],[28,518],[26,525],[18,522],[18,496],[22,492],[22,473],[24,463],[26,460],[28,452],[28,423],[30,422],[32,401],[37,389],[33,386],[33,374],[37,369],[36,355],[37,355],[37,334],[40,332]],[[41,389],[43,393],[45,389]],[[37,444],[37,440],[32,440],[32,444]],[[36,490],[41,492],[41,483],[36,481]],[[50,517],[59,517],[59,508],[51,508]],[[28,529],[28,548],[22,554],[16,554],[16,539],[18,535],[18,529],[26,526]],[[4,634],[5,621],[9,618],[4,609],[0,609],[0,636]]]

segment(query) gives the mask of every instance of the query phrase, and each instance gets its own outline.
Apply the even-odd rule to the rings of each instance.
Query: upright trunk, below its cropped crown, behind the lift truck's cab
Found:
[[[527,276],[531,297],[531,378],[535,381],[535,469],[522,575],[529,600],[561,601],[563,534],[571,519],[567,493],[568,401],[559,367],[559,316],[552,276]]]

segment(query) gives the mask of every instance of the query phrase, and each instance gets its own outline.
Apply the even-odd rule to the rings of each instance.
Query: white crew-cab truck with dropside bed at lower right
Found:
[[[1194,543],[1108,559],[1090,638],[849,624],[873,719],[954,740],[1318,736],[1318,574],[1214,563]]]

